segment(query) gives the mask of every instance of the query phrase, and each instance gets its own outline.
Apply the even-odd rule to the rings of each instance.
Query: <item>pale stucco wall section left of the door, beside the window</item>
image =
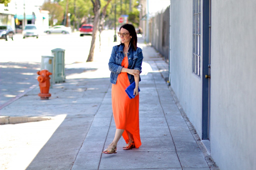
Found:
[[[193,1],[171,1],[171,87],[201,137],[202,80],[192,72]]]

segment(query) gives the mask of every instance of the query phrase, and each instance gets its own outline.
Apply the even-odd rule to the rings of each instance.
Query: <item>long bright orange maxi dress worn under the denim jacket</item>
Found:
[[[123,67],[128,68],[128,58],[124,57]],[[124,129],[123,138],[127,143],[127,131],[133,135],[135,148],[141,146],[139,127],[139,95],[130,99],[125,89],[130,85],[127,73],[120,73],[116,84],[112,84],[112,109],[116,129]]]

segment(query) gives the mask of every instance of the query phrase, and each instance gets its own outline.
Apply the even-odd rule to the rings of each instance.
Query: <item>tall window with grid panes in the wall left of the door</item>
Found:
[[[193,0],[193,73],[201,75],[201,0]]]

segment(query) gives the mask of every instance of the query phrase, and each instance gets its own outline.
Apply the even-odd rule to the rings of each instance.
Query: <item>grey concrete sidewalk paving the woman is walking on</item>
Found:
[[[113,44],[110,44],[112,46]],[[140,134],[142,146],[128,151],[121,137],[116,154],[101,152],[111,143],[115,124],[111,105],[111,84],[107,62],[110,50],[96,54],[95,62],[77,63],[66,66],[67,80],[50,89],[52,97],[40,100],[39,88],[35,87],[26,95],[0,110],[1,115],[15,117],[46,117],[51,120],[2,125],[8,128],[30,129],[44,127],[51,135],[40,144],[30,160],[12,162],[3,160],[1,168],[9,169],[177,169],[215,170],[218,169],[186,115],[182,115],[178,101],[174,100],[165,79],[168,64],[154,50],[138,38],[138,47],[143,50],[143,65],[140,82]],[[105,56],[102,54],[106,54]],[[178,107],[179,106],[179,107]],[[48,122],[46,124],[46,122]],[[40,124],[40,125],[39,125]],[[54,128],[51,128],[53,126]],[[0,128],[2,128],[0,126]],[[3,130],[3,129],[1,129]],[[15,129],[14,131],[16,131]],[[10,131],[10,132],[14,132]],[[35,132],[36,133],[36,132]],[[31,132],[32,134],[32,132]],[[8,134],[6,133],[6,136]],[[38,135],[38,138],[42,138]],[[27,137],[28,138],[28,137]],[[23,140],[28,140],[26,136]],[[33,138],[33,136],[31,136]],[[45,138],[44,138],[45,139]],[[3,140],[3,139],[0,139]],[[9,138],[6,137],[6,144]],[[32,140],[32,139],[31,139]],[[33,142],[31,142],[33,143]],[[35,146],[37,142],[35,142]],[[3,149],[4,153],[9,152]],[[23,166],[20,166],[20,165]],[[22,167],[22,168],[20,168]]]

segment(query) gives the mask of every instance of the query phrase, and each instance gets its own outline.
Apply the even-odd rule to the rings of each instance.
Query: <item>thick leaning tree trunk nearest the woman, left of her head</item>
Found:
[[[92,42],[91,42],[90,53],[88,55],[86,62],[93,61],[95,40],[97,37],[97,32],[99,31],[99,24],[100,24],[100,0],[95,0],[95,2],[93,2],[92,0],[92,3],[93,3],[93,12],[94,12]]]

